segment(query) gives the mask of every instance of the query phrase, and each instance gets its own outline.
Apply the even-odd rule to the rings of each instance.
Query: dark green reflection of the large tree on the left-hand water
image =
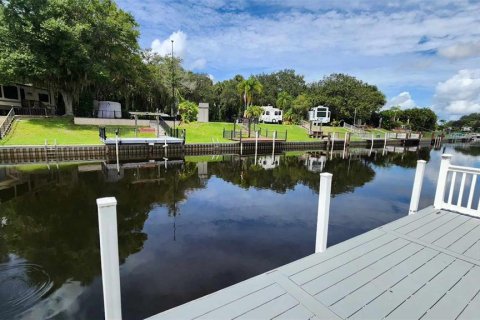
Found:
[[[8,224],[0,230],[0,257],[6,261],[9,253],[16,254],[41,265],[55,288],[68,279],[88,284],[100,274],[96,199],[118,200],[123,263],[147,239],[142,230],[152,204],[166,205],[173,212],[175,203],[186,199],[187,190],[202,187],[195,169],[194,164],[162,168],[160,181],[157,168],[142,170],[142,178],[156,178],[157,183],[135,183],[134,170],[116,183],[106,182],[101,172],[59,172],[61,183],[2,203],[0,217],[5,216]]]

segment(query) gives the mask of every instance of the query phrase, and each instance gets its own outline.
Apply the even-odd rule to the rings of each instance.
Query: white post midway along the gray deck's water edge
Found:
[[[332,174],[320,174],[320,189],[318,191],[317,237],[315,253],[327,250],[328,218],[330,215],[330,194],[332,190]]]

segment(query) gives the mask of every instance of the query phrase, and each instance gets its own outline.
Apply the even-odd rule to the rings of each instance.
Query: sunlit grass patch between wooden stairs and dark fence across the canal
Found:
[[[187,129],[186,143],[208,143],[208,142],[232,142],[224,139],[223,128],[233,129],[233,123],[229,122],[191,122],[180,125],[181,129]],[[214,141],[212,141],[214,138]]]

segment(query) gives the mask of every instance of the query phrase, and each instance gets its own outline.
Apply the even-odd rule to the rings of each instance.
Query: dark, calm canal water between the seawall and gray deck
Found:
[[[203,156],[0,168],[0,319],[101,319],[95,200],[118,200],[124,319],[141,319],[313,253],[319,172],[333,173],[328,245],[406,215],[415,165],[480,166],[480,147]]]

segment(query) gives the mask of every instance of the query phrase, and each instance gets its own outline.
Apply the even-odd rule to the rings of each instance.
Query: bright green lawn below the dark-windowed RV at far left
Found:
[[[107,136],[114,136],[113,128],[107,128]],[[140,133],[142,137],[153,137],[154,133]],[[120,127],[120,136],[134,137],[132,127]],[[75,125],[70,117],[17,119],[7,137],[0,145],[54,144],[101,144],[97,126]]]

